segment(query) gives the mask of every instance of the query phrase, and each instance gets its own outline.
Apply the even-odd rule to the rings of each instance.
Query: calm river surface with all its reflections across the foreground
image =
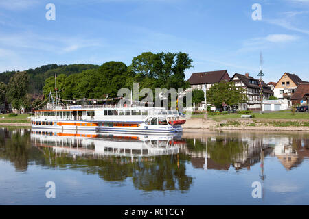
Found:
[[[0,205],[309,205],[309,133],[0,136]]]

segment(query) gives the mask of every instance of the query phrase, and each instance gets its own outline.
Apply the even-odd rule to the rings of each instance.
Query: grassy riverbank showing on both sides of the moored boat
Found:
[[[290,111],[252,113],[253,118],[241,118],[240,114],[225,115],[192,115],[183,125],[184,131],[189,129],[220,130],[261,130],[261,131],[309,131],[309,114],[306,112],[292,114]],[[30,114],[0,115],[0,126],[30,127]]]

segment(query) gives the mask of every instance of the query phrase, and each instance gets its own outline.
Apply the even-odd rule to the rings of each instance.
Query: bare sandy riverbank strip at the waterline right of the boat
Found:
[[[251,130],[251,131],[309,131],[309,120],[286,119],[233,119],[211,120],[204,118],[191,118],[183,125],[184,131],[190,129],[214,130]]]

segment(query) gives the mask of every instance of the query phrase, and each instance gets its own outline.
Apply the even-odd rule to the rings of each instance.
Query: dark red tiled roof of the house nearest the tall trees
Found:
[[[222,80],[222,77],[225,76],[227,70],[216,70],[208,71],[203,73],[193,73],[187,81],[190,82],[190,85],[195,84],[205,84],[205,83],[219,83]],[[229,75],[227,73],[227,75]]]

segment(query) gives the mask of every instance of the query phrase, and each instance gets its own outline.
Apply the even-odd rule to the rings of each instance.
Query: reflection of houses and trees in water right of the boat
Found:
[[[213,170],[247,169],[260,163],[264,180],[264,158],[277,157],[286,170],[309,157],[308,136],[286,136],[252,132],[185,133],[181,153],[190,155],[195,168]]]

